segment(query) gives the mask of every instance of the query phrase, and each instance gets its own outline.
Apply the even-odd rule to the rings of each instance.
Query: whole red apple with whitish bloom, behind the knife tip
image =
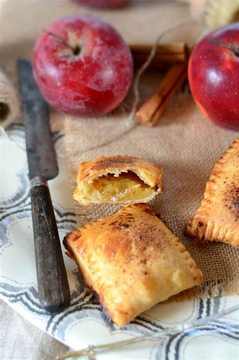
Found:
[[[117,107],[133,74],[132,55],[121,35],[88,15],[66,16],[46,31],[33,56],[35,80],[45,100],[80,116],[100,116]]]

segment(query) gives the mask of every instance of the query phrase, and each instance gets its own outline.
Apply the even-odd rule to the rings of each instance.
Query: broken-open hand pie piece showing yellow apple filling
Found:
[[[83,205],[129,204],[152,200],[161,191],[161,166],[130,156],[112,156],[81,163],[73,197]]]

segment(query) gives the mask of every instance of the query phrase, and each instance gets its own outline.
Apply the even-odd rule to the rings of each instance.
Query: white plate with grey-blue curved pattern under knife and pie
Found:
[[[9,134],[25,146],[24,128],[13,124]],[[56,149],[64,152],[64,134],[54,133]],[[45,312],[37,298],[35,255],[26,152],[2,135],[1,141],[1,296],[33,324],[74,349],[127,339],[183,321],[215,314],[238,303],[217,297],[158,304],[119,328],[107,321],[94,294],[81,281],[76,264],[64,254],[71,306],[60,314]],[[49,182],[61,241],[76,228],[67,162],[58,159],[59,175]],[[63,252],[65,249],[63,248]],[[238,312],[160,341],[148,340],[97,355],[97,359],[238,359]]]

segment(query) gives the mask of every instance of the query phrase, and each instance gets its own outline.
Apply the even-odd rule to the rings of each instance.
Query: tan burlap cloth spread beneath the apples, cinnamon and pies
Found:
[[[92,11],[67,0],[9,0],[1,9],[1,65],[17,85],[15,60],[31,59],[37,36],[53,20],[73,13],[90,13],[112,23],[128,42],[153,43],[161,31],[189,17],[185,4],[132,1],[116,11]],[[197,41],[200,22],[167,35],[164,41]],[[147,71],[141,85],[141,101],[152,91],[159,73]],[[238,249],[215,243],[199,247],[182,236],[182,228],[200,204],[214,162],[238,133],[211,124],[200,113],[187,91],[170,102],[158,124],[146,128],[129,120],[130,93],[122,106],[100,119],[72,118],[51,109],[53,130],[65,129],[72,188],[79,163],[98,156],[130,155],[158,163],[163,168],[164,188],[150,205],[175,235],[182,239],[204,275],[202,292],[215,296],[238,293]],[[112,205],[78,206],[79,226],[115,210]]]

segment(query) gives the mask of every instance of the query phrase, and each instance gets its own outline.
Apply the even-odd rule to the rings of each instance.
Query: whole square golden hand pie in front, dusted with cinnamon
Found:
[[[64,245],[119,326],[202,281],[184,245],[147,204],[89,223],[67,234]]]

